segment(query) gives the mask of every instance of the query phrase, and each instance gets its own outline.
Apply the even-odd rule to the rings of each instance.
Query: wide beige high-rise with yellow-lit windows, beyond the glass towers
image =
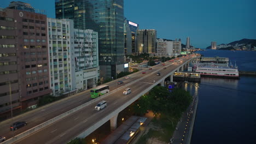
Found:
[[[155,29],[139,29],[137,31],[137,52],[156,52],[156,31]]]

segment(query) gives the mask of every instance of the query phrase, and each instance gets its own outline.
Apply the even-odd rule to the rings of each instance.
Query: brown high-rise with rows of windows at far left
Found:
[[[46,15],[0,11],[0,113],[9,112],[10,104],[14,112],[34,107],[50,94],[46,30]]]

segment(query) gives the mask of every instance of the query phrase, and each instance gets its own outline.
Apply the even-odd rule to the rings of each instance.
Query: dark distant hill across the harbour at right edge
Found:
[[[218,50],[235,50],[237,47],[246,46],[251,44],[251,48],[256,46],[256,39],[241,39],[233,41],[229,44],[220,44],[217,45]],[[211,49],[211,46],[206,47],[206,49]]]

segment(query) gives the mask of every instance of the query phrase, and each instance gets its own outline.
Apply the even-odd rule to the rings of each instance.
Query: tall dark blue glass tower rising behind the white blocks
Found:
[[[124,1],[56,0],[56,19],[73,19],[74,28],[98,32],[101,77],[124,71]]]

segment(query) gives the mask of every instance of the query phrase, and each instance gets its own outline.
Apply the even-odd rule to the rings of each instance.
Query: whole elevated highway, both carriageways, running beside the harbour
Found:
[[[183,58],[183,63],[180,64],[166,62],[165,66],[160,64],[155,65],[152,67],[152,70],[145,70],[146,74],[138,72],[130,75],[131,79],[118,79],[124,81],[122,85],[116,84],[118,80],[109,82],[107,85],[110,87],[110,93],[94,100],[90,98],[89,91],[85,91],[53,104],[40,107],[37,110],[24,113],[18,117],[14,117],[13,120],[8,119],[0,123],[0,135],[7,137],[7,139],[12,136],[12,131],[9,130],[12,121],[26,121],[28,123],[26,127],[15,131],[15,135],[18,135],[24,133],[24,131],[30,131],[34,127],[37,127],[37,125],[79,106],[81,109],[68,113],[68,115],[56,122],[46,125],[36,132],[33,131],[32,134],[24,138],[15,139],[15,137],[17,137],[15,136],[15,143],[65,143],[74,137],[85,137],[89,135],[109,119],[111,126],[114,128],[120,111],[141,97],[142,94],[148,92],[155,85],[158,85],[158,83],[164,85],[166,77],[171,76],[172,78],[172,74],[175,71],[182,70],[183,66],[194,58],[197,57],[189,56]],[[166,69],[163,69],[163,67],[166,67]],[[158,71],[161,73],[160,76],[156,76]],[[132,93],[123,95],[123,91],[127,87],[131,88]],[[94,110],[95,105],[101,100],[108,101],[108,106],[101,111]],[[82,105],[84,106],[82,107]],[[11,139],[6,141],[6,143],[11,143]]]

